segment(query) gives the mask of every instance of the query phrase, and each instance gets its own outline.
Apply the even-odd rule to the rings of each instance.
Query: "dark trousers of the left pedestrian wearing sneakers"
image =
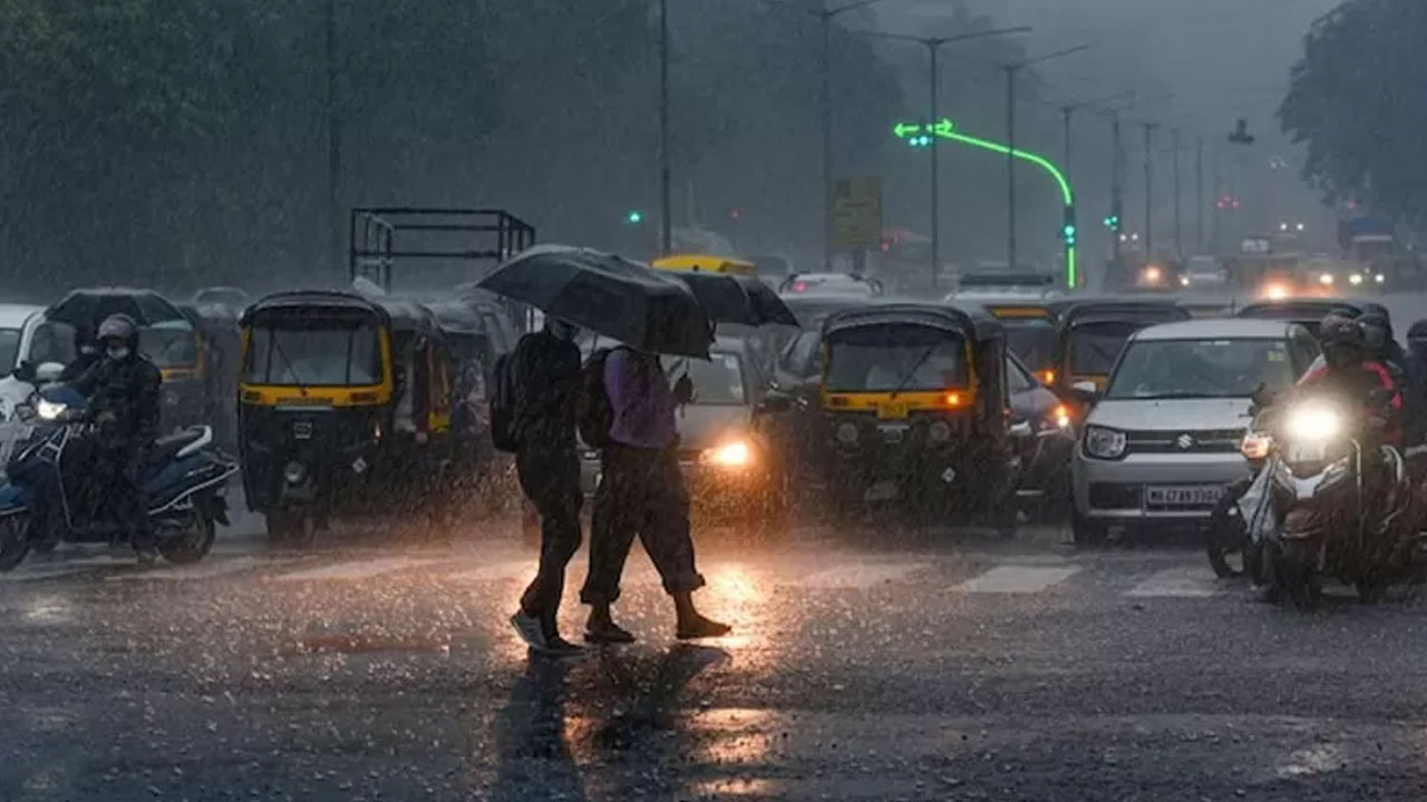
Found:
[[[528,448],[515,455],[515,472],[541,518],[539,569],[521,597],[521,609],[554,625],[565,567],[579,549],[579,458],[568,448]]]

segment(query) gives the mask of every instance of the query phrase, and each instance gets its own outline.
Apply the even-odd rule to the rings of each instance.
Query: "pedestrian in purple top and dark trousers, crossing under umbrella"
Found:
[[[659,355],[631,348],[609,352],[604,380],[612,422],[602,448],[602,478],[589,527],[589,575],[579,592],[589,605],[585,639],[634,641],[634,635],[615,624],[609,606],[619,598],[619,577],[636,534],[659,571],[665,592],[674,597],[676,636],[726,635],[731,626],[694,606],[694,591],[704,587],[704,577],[694,567],[689,494],[679,472],[674,425],[675,407],[692,398],[692,384],[684,377],[671,390]]]

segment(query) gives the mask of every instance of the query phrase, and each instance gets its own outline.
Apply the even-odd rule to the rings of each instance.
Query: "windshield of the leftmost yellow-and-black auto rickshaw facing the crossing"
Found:
[[[290,387],[367,387],[382,380],[371,320],[277,317],[253,324],[243,381]]]

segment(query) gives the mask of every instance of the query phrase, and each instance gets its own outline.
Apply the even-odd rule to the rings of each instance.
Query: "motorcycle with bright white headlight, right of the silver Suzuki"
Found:
[[[1374,400],[1377,401],[1377,400]],[[1271,524],[1251,535],[1246,564],[1266,601],[1319,602],[1324,577],[1373,601],[1413,577],[1418,494],[1403,455],[1366,447],[1366,420],[1321,400],[1283,410],[1263,471]]]

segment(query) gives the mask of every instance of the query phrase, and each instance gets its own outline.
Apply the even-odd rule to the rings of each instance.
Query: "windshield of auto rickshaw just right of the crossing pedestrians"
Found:
[[[865,325],[828,338],[829,392],[966,387],[966,340],[929,325]]]

